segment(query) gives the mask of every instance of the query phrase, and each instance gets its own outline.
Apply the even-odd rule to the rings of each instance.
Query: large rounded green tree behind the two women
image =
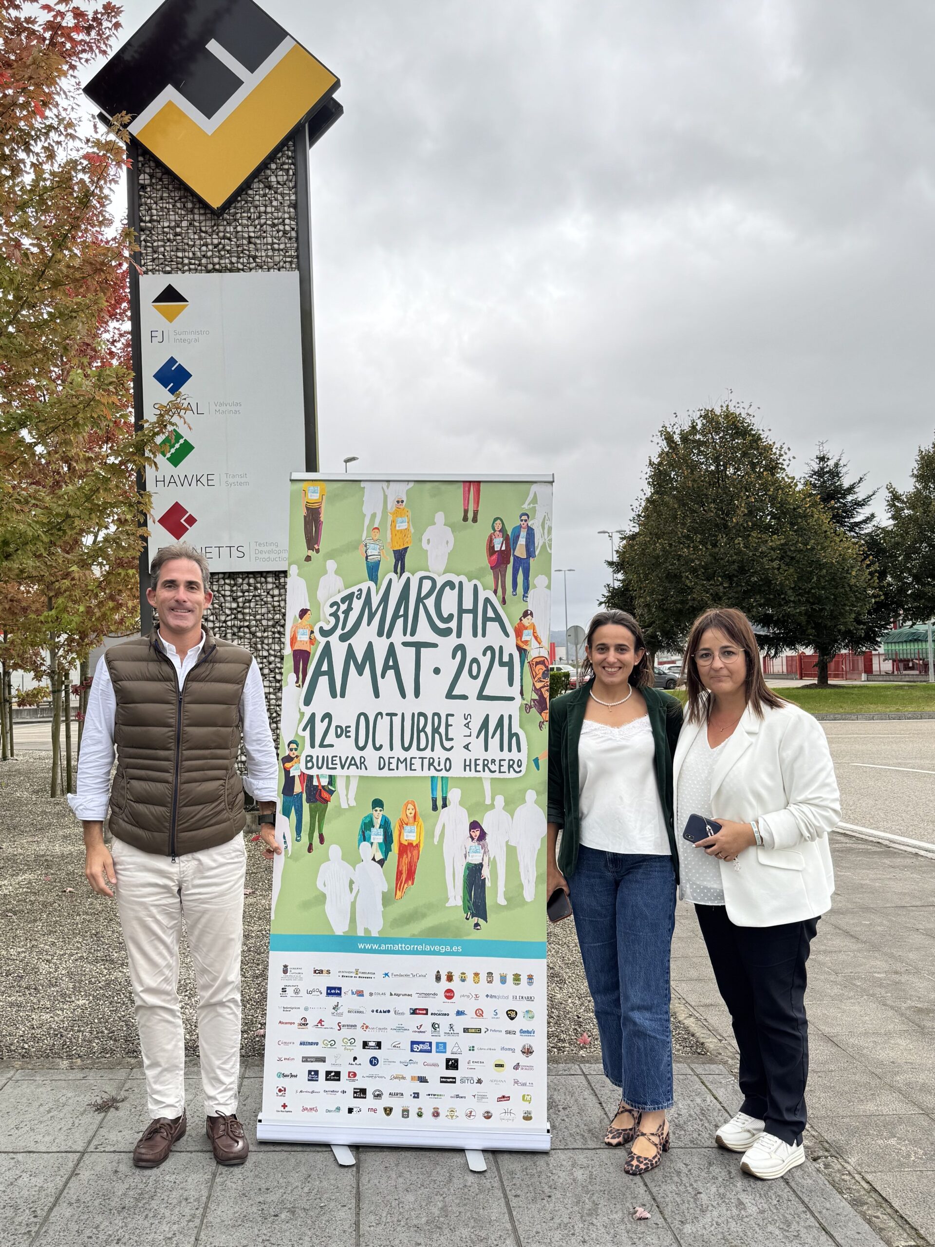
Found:
[[[832,650],[874,597],[856,542],[832,524],[788,451],[726,403],[664,425],[621,542],[608,605],[628,605],[651,648],[677,648],[697,615],[736,606],[765,648]]]

